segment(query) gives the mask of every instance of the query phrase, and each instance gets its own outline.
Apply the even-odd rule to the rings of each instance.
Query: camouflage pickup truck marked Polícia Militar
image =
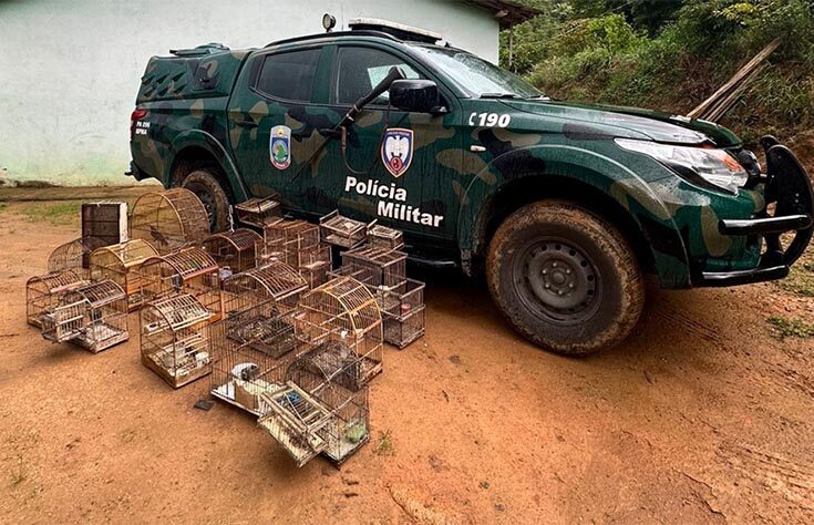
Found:
[[[765,169],[719,125],[553,102],[437,37],[387,27],[153,58],[130,175],[184,186],[213,230],[278,194],[316,219],[404,230],[411,257],[484,274],[524,337],[586,354],[663,288],[781,279],[812,237],[812,186],[762,140]]]

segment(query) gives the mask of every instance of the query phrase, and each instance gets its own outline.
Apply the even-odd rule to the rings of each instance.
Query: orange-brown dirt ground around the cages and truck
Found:
[[[814,299],[776,284],[650,286],[629,341],[575,360],[425,276],[426,337],[387,350],[371,443],[298,470],[249,415],[194,409],[207,380],[142,367],[134,316],[99,356],[25,325],[27,278],[76,224],[0,206],[2,523],[814,522],[814,339],[767,322]]]

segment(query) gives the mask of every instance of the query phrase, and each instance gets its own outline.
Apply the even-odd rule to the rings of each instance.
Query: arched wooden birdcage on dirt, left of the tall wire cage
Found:
[[[190,295],[148,302],[140,312],[142,363],[176,389],[209,374],[210,318]]]

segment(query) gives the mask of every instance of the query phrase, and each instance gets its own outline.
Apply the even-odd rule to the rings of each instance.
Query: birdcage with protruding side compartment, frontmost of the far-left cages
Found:
[[[124,342],[130,338],[127,296],[112,280],[74,288],[42,317],[42,337],[70,341],[93,353]]]

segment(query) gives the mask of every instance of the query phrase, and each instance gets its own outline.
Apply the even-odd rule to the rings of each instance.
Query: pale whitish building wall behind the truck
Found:
[[[497,22],[455,0],[0,0],[0,177],[128,184],[130,113],[150,56],[262,47],[357,17],[441,32],[497,60]]]

